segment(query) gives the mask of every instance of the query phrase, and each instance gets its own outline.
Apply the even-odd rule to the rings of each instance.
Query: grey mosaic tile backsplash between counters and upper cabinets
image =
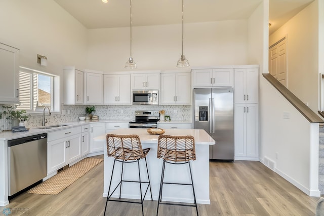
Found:
[[[78,116],[86,113],[87,106],[90,105],[61,105],[61,111],[65,111],[64,115],[49,116],[46,110],[47,125],[78,121]],[[99,119],[107,120],[133,120],[136,110],[165,110],[165,115],[170,116],[171,120],[191,121],[192,117],[191,105],[95,105],[95,110],[92,114],[99,116]],[[2,105],[0,105],[0,112],[2,112]],[[42,126],[42,120],[42,115],[31,116],[26,122],[26,127]]]

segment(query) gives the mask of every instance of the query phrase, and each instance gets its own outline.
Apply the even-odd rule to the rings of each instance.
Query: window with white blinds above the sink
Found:
[[[19,100],[17,110],[27,113],[42,112],[45,106],[51,111],[59,111],[59,77],[42,71],[20,67]]]

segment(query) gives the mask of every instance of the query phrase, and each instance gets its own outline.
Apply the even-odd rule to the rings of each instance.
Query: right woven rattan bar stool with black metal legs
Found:
[[[192,173],[191,173],[191,166],[190,166],[190,160],[196,160],[194,137],[159,135],[158,142],[157,142],[157,158],[163,159],[163,167],[162,167],[162,174],[161,174],[160,191],[157,200],[156,215],[158,215],[158,206],[160,204],[195,207],[198,215],[198,208],[197,208],[196,196],[193,188]],[[173,165],[188,164],[190,170],[191,184],[164,182],[166,163],[173,164]],[[162,189],[164,184],[191,185],[194,204],[162,202]]]

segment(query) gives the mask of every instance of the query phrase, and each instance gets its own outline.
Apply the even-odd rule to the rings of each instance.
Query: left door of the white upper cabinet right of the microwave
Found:
[[[176,102],[176,75],[161,74],[160,104],[174,104]]]

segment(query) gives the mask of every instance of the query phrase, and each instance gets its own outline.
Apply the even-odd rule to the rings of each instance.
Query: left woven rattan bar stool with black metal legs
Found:
[[[148,188],[150,189],[151,200],[153,200],[150,178],[148,175],[148,168],[147,168],[147,162],[146,162],[146,156],[149,151],[150,151],[150,148],[142,149],[140,137],[138,135],[135,135],[135,134],[132,134],[132,135],[107,134],[107,154],[108,154],[108,157],[113,157],[115,159],[113,161],[113,166],[112,166],[112,172],[111,172],[111,177],[110,177],[110,184],[109,184],[109,189],[108,189],[108,196],[107,196],[104,215],[106,214],[108,200],[115,201],[115,202],[128,202],[128,203],[141,204],[142,205],[142,214],[144,215],[143,201],[144,201],[144,198],[148,191]],[[145,159],[147,178],[148,178],[148,181],[145,181],[145,182],[141,181],[140,163],[139,163],[140,159],[143,159],[143,158]],[[119,181],[118,185],[115,187],[115,189],[110,194],[111,181],[112,181],[112,176],[113,176],[113,171],[115,168],[116,161],[122,163],[121,176],[120,176],[120,181]],[[127,180],[123,179],[124,163],[134,163],[134,162],[137,162],[137,164],[138,164],[139,181],[127,181]],[[141,193],[141,202],[120,200],[121,185],[123,182],[139,183],[140,193]],[[145,190],[144,196],[142,195],[142,184],[143,183],[148,184],[147,188]],[[115,192],[115,190],[118,188],[118,186],[120,186],[119,200],[110,199],[111,195]]]

